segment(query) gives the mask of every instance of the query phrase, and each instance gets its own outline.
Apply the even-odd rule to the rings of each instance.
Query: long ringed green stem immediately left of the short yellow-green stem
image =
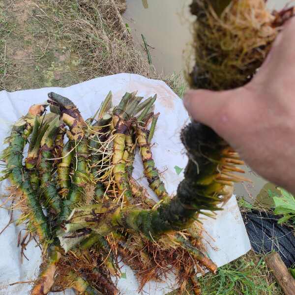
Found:
[[[41,179],[40,187],[43,191],[43,196],[46,200],[46,207],[51,208],[55,214],[61,211],[61,200],[59,198],[57,186],[52,182],[53,148],[55,139],[60,130],[60,120],[55,118],[46,130],[40,148],[40,163],[38,165],[39,176]]]

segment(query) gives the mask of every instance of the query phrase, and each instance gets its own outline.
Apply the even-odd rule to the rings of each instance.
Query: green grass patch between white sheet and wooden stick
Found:
[[[283,295],[263,257],[250,251],[200,279],[203,295]]]

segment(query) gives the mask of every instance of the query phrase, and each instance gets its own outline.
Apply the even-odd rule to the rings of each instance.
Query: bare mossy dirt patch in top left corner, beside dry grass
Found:
[[[83,79],[77,74],[79,57],[58,38],[48,6],[4,0],[0,9],[0,31],[5,36],[0,43],[1,89],[69,86]]]

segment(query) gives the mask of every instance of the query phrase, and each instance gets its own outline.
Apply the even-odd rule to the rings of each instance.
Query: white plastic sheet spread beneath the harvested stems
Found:
[[[184,168],[187,162],[184,148],[179,139],[181,128],[188,122],[188,115],[182,101],[162,81],[150,80],[134,74],[118,74],[108,77],[93,79],[68,88],[43,88],[23,90],[16,92],[0,92],[0,143],[9,135],[13,122],[25,115],[32,104],[42,103],[47,100],[47,93],[57,92],[70,98],[79,108],[84,118],[89,118],[100,106],[107,93],[112,90],[114,104],[128,91],[138,90],[139,96],[148,98],[157,93],[155,112],[160,112],[152,152],[154,160],[165,182],[167,190],[173,194],[177,190],[177,184],[183,178],[183,174],[177,175],[175,166]],[[3,149],[4,146],[0,149]],[[151,196],[153,192],[148,188],[148,182],[143,177],[143,166],[139,155],[135,159],[134,177],[139,179]],[[0,184],[1,193],[5,192],[7,182]],[[9,216],[5,209],[0,208],[0,229],[8,222]],[[205,243],[209,257],[218,265],[225,265],[240,257],[250,250],[250,242],[233,197],[220,211],[216,220],[204,218],[206,230]],[[17,248],[17,236],[21,227],[11,224],[0,236],[0,295],[24,295],[29,292],[31,286],[19,284],[8,287],[10,283],[17,281],[33,280],[38,274],[41,262],[40,249],[30,242],[23,263],[20,260],[20,249]],[[126,279],[118,281],[121,294],[138,294],[138,283],[132,270],[123,266]],[[162,295],[171,291],[173,277],[165,283],[151,282],[145,286],[144,291],[150,295]],[[66,294],[74,294],[67,291]]]

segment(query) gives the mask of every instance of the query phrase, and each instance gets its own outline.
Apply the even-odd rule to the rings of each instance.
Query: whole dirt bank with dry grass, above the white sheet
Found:
[[[114,0],[92,1],[98,8],[80,3],[0,1],[0,89],[66,87],[122,71],[148,75],[119,19],[124,3],[113,15]]]

